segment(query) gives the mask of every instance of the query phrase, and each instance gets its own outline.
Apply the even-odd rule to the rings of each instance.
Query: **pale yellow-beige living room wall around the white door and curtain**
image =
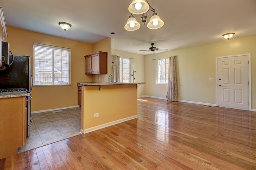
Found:
[[[145,57],[145,95],[166,98],[167,85],[156,84],[156,61],[175,55],[179,100],[216,104],[216,57],[251,54],[252,109],[256,109],[256,35],[223,40]],[[152,69],[153,68],[153,69]],[[215,78],[209,81],[208,78]],[[180,96],[180,95],[183,96]]]

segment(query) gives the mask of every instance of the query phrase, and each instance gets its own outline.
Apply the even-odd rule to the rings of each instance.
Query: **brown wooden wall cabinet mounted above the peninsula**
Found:
[[[85,74],[107,74],[107,54],[98,51],[85,57]]]

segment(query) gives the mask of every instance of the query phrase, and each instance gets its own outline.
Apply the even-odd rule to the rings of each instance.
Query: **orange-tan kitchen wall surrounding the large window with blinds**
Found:
[[[61,107],[77,106],[77,82],[91,82],[92,76],[84,73],[84,55],[92,53],[92,45],[7,27],[10,50],[14,55],[28,55],[32,57],[33,74],[33,43],[41,43],[71,49],[71,86],[43,86],[33,87],[31,110],[40,111]],[[68,32],[66,32],[68,33]]]

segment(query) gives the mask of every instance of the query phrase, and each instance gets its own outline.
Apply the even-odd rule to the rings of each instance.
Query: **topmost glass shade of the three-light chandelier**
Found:
[[[149,10],[149,5],[145,0],[132,0],[128,10],[132,14],[144,14]]]

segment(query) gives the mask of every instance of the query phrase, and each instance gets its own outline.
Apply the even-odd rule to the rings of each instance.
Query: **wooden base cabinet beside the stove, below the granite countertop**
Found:
[[[26,98],[0,98],[0,159],[26,143]]]

